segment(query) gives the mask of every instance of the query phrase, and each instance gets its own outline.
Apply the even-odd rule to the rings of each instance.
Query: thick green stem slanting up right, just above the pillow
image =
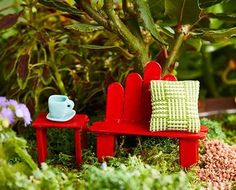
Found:
[[[183,44],[184,39],[185,39],[185,34],[183,32],[179,33],[178,36],[176,37],[175,44],[173,48],[170,50],[170,55],[165,63],[163,73],[166,73],[167,71],[171,72],[169,69],[171,68],[171,66],[175,64],[175,60],[177,58],[179,49]]]

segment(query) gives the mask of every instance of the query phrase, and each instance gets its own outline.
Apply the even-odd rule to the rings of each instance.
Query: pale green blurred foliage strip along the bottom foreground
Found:
[[[32,174],[15,170],[0,161],[1,189],[201,189],[201,184],[191,184],[183,171],[162,174],[153,166],[144,164],[137,157],[130,157],[117,166],[96,167],[84,165],[80,175],[76,171],[67,174],[42,164]],[[14,172],[15,171],[15,172]]]

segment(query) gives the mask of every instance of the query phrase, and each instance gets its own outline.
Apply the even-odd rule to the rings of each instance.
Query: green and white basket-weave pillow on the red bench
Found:
[[[151,81],[151,131],[200,130],[199,81]]]

